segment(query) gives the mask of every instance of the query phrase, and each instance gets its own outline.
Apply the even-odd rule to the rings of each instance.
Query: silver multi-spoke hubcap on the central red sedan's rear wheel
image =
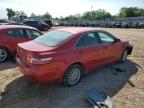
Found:
[[[68,74],[68,83],[70,85],[76,84],[79,81],[80,76],[81,76],[80,69],[76,67],[73,68]]]

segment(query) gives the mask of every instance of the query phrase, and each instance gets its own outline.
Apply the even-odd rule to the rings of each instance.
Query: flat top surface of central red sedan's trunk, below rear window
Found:
[[[45,51],[51,51],[54,49],[54,47],[48,47],[45,45],[41,45],[34,41],[19,43],[18,47],[20,47],[24,50],[27,50],[27,51],[31,51],[31,52],[45,52]]]

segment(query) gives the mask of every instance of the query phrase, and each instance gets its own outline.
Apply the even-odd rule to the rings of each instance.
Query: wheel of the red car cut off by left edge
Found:
[[[8,50],[0,47],[0,63],[8,59]]]

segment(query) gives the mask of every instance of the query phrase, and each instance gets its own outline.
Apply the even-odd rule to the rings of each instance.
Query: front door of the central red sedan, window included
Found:
[[[99,31],[98,35],[104,50],[104,63],[111,63],[118,60],[122,51],[121,42],[116,42],[116,38],[107,32]]]

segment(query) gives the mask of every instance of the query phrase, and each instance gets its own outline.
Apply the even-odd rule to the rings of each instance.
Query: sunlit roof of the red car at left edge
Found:
[[[35,29],[33,27],[24,26],[24,25],[0,25],[0,30],[3,30],[3,29],[14,29],[14,28]]]

